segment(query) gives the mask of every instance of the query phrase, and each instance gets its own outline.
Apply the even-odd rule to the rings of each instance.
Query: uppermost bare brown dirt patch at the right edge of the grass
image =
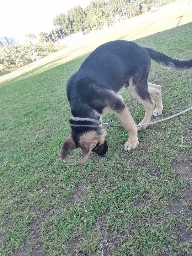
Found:
[[[171,167],[175,170],[175,172],[181,173],[182,176],[188,179],[189,182],[192,181],[192,163],[189,162],[175,162],[173,161]]]

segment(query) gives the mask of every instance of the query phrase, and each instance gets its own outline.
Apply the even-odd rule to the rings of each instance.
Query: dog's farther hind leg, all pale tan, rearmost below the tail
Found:
[[[153,111],[153,115],[154,116],[161,115],[162,110],[163,110],[162,97],[161,97],[161,86],[148,82],[148,92],[155,97],[155,101],[156,101],[156,106]]]

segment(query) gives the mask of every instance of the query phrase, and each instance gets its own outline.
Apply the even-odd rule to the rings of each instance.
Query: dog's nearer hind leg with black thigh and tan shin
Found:
[[[155,101],[151,98],[148,89],[147,81],[138,81],[136,79],[130,79],[129,88],[131,93],[143,104],[145,108],[145,116],[140,124],[149,123],[155,108]],[[147,125],[139,126],[138,131],[146,129]]]

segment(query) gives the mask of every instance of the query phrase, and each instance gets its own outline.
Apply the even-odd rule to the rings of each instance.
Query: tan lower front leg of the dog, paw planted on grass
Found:
[[[120,120],[129,135],[128,141],[125,142],[124,148],[126,151],[130,151],[131,149],[136,148],[139,144],[135,122],[126,106],[124,109],[118,111],[117,114],[119,115]]]

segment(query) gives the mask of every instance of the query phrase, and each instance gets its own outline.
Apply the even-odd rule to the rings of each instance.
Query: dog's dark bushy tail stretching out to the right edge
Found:
[[[192,59],[188,61],[178,61],[174,60],[171,57],[158,52],[154,51],[150,48],[145,48],[147,52],[149,53],[152,60],[162,64],[163,66],[166,66],[168,68],[176,68],[176,69],[190,69],[192,68]]]

